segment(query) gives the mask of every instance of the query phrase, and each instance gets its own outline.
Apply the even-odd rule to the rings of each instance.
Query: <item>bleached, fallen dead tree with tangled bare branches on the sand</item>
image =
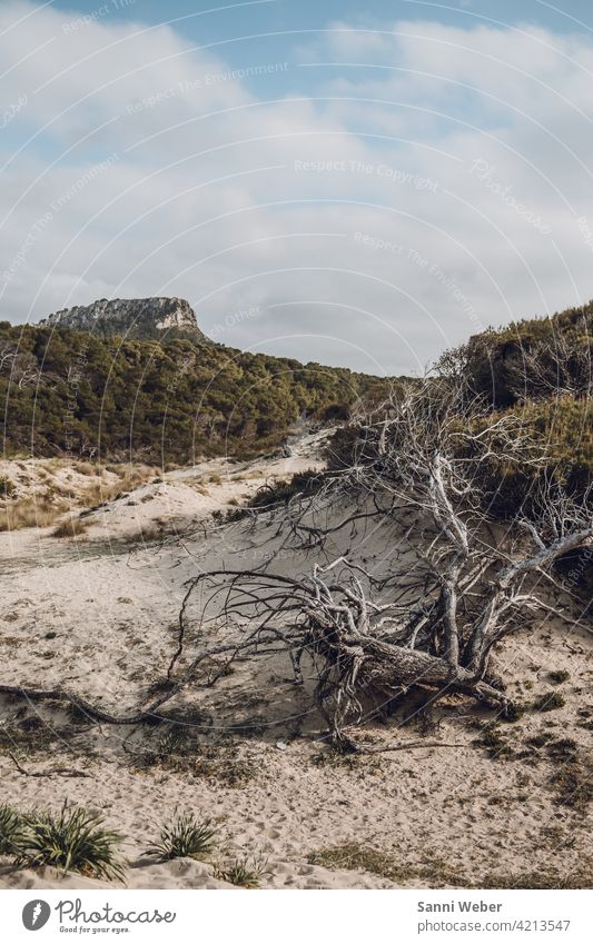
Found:
[[[188,598],[210,590],[201,597],[202,638],[209,625],[229,634],[217,655],[285,649],[297,683],[303,655],[310,657],[317,705],[337,743],[369,705],[411,688],[462,692],[507,709],[504,684],[488,677],[493,647],[526,615],[554,609],[542,582],[554,580],[559,557],[593,544],[589,493],[575,499],[564,490],[518,418],[468,408],[461,384],[432,379],[399,390],[384,416],[358,427],[349,466],[306,501],[295,496],[279,530],[323,546],[355,520],[387,519],[397,535],[387,578],[362,566],[354,548],[302,578],[218,572],[188,589]],[[512,465],[531,473],[532,487],[518,514],[495,523],[485,470],[492,478]],[[315,521],[324,500],[348,508],[343,521]],[[207,658],[206,649],[190,672]]]

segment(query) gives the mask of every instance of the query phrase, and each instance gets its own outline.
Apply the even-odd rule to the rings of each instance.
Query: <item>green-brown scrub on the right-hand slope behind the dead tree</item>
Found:
[[[503,460],[496,451],[482,463],[476,484],[497,516],[527,510],[542,479],[557,481],[575,496],[584,495],[593,483],[592,332],[590,302],[551,318],[484,331],[438,361],[432,381],[436,401],[447,397],[447,384],[452,390],[461,382],[465,387],[461,428],[478,436],[496,418],[514,419],[522,435],[545,450],[546,461],[536,467],[526,457]],[[431,382],[426,395],[429,413]],[[330,468],[375,460],[376,444],[360,437],[360,428],[352,424],[337,430],[329,449]],[[467,439],[461,441],[467,454]]]

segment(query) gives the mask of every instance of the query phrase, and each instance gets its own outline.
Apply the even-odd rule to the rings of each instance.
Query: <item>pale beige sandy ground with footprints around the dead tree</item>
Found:
[[[310,570],[317,558],[290,549],[275,528],[256,535],[245,523],[214,520],[213,513],[233,510],[267,480],[322,467],[320,438],[304,438],[287,457],[213,460],[151,475],[87,515],[88,528],[77,539],[52,537],[51,528],[1,534],[8,576],[0,603],[0,683],[62,686],[116,714],[147,704],[175,652],[188,579],[214,567],[260,565],[270,555],[275,572]],[[34,473],[27,475],[34,488]],[[343,510],[326,514],[339,517]],[[357,535],[356,553],[378,568],[391,543],[389,533]],[[352,556],[350,545],[352,535],[342,533],[327,556]],[[195,616],[197,625],[199,600],[195,610],[189,619]],[[373,749],[423,736],[447,746],[336,763],[307,685],[296,689],[289,665],[277,660],[261,660],[255,669],[238,665],[219,687],[178,696],[172,707],[186,717],[192,711],[195,721],[177,742],[167,725],[89,725],[4,698],[2,802],[57,809],[68,801],[99,811],[127,837],[127,884],[137,888],[227,887],[216,877],[216,861],[158,864],[145,855],[147,842],[180,812],[215,819],[227,857],[265,862],[263,887],[480,886],[493,876],[527,873],[570,882],[591,861],[590,831],[581,806],[559,803],[552,777],[562,752],[548,745],[571,738],[575,749],[586,751],[590,640],[556,620],[504,643],[496,667],[511,679],[510,694],[533,698],[557,690],[565,705],[502,726],[502,752],[476,743],[476,724],[492,713],[451,697],[435,708],[427,733],[419,721],[403,725],[395,717],[358,734]],[[188,640],[188,657],[195,643]],[[550,673],[559,669],[569,677],[554,685]],[[545,745],[530,745],[542,734]],[[17,769],[10,749],[27,773]],[[87,776],[27,775],[57,766]],[[352,868],[344,858],[323,855],[345,844],[357,851],[346,863]],[[373,866],[369,851],[393,868]],[[319,862],[312,864],[315,855]],[[8,862],[0,867],[0,887],[101,884],[51,870],[14,872]]]

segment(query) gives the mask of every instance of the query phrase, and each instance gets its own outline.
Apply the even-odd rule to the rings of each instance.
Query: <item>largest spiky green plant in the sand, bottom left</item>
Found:
[[[27,817],[27,835],[16,856],[20,868],[52,865],[63,872],[79,872],[93,878],[123,881],[123,864],[116,855],[123,836],[103,827],[101,816],[65,804],[56,816],[32,813]]]

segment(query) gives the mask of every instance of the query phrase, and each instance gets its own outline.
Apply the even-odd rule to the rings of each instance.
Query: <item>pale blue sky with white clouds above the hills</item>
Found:
[[[0,3],[0,318],[422,372],[593,296],[593,7]]]

